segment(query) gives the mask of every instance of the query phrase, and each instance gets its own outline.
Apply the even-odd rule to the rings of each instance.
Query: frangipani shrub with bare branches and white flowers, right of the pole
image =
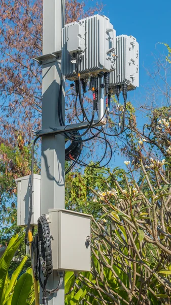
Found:
[[[75,288],[66,304],[170,303],[171,118],[159,119],[157,128],[168,143],[166,159],[145,160],[142,138],[136,163],[125,161],[127,172],[118,177],[118,168],[107,169],[101,177],[99,170],[96,187],[87,186],[89,200],[98,207],[91,226],[92,269],[76,281],[67,274],[66,292]]]

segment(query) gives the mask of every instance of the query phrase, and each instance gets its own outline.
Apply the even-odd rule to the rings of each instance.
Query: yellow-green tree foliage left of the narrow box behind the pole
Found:
[[[15,179],[30,174],[31,144],[24,145],[21,135],[17,145],[0,144],[0,243],[4,244],[23,229],[16,226],[17,185]],[[35,172],[40,172],[39,158],[35,161]]]

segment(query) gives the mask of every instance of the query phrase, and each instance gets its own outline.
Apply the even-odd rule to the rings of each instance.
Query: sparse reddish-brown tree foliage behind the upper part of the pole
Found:
[[[69,0],[65,3],[65,21],[100,10],[98,4],[87,8],[85,1]],[[43,0],[2,0],[0,20],[1,134],[14,142],[14,133],[22,131],[30,143],[31,129],[41,127],[42,72],[32,58],[42,53]]]

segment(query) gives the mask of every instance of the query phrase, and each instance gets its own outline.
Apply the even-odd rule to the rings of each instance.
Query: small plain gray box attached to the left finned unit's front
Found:
[[[70,54],[74,52],[84,52],[85,50],[85,28],[84,24],[74,22],[67,29],[67,50]]]

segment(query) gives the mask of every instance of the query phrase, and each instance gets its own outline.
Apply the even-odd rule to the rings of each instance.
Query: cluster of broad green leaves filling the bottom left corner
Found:
[[[24,235],[19,237],[15,235],[11,238],[9,245],[0,259],[0,304],[1,305],[19,305],[19,304],[33,304],[35,299],[33,292],[33,282],[29,268],[21,275],[21,271],[27,261],[25,256],[16,270],[13,272],[11,278],[8,276],[10,264],[15,255],[15,252],[21,245]],[[21,275],[21,276],[20,276]],[[18,277],[19,280],[17,281]]]

